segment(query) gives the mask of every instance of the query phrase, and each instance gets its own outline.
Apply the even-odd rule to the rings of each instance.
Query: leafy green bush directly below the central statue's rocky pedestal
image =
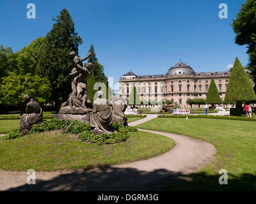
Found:
[[[64,128],[63,133],[79,134],[83,131],[90,131],[90,125],[88,123],[83,123],[78,120],[70,120],[67,127]]]

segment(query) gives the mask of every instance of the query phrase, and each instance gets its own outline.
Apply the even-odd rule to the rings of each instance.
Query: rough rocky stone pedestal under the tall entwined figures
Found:
[[[83,123],[89,122],[89,113],[93,110],[91,108],[84,107],[61,107],[60,112],[55,114],[56,119],[68,119],[68,120],[78,120]]]

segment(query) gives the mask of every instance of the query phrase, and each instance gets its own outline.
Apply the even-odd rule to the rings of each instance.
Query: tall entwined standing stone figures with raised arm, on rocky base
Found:
[[[92,112],[92,102],[87,98],[87,80],[92,75],[93,64],[88,62],[86,67],[83,67],[83,61],[90,57],[91,53],[80,58],[76,52],[70,52],[73,57],[74,68],[69,74],[72,78],[71,86],[72,93],[69,94],[67,102],[61,105],[60,111],[55,115],[57,119],[80,120],[81,122],[89,122],[89,112]]]

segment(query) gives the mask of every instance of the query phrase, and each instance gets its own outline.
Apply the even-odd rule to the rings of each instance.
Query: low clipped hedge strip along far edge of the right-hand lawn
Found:
[[[224,116],[224,115],[158,115],[166,118],[191,118],[191,119],[223,119],[223,120],[247,120],[256,121],[256,117]]]

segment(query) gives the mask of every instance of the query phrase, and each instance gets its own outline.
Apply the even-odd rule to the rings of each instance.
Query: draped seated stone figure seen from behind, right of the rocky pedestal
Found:
[[[97,99],[93,102],[93,112],[90,114],[90,126],[93,128],[93,133],[99,135],[102,133],[113,133],[113,110],[108,104],[108,99],[103,98],[103,92],[97,91]]]

